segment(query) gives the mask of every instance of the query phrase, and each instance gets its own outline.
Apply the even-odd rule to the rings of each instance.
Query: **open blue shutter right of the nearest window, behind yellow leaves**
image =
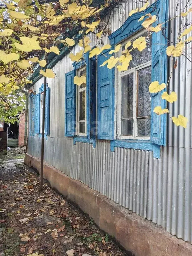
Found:
[[[168,1],[161,2],[159,10],[159,23],[167,20]],[[166,23],[167,26],[167,23]],[[151,81],[158,81],[159,84],[167,82],[167,55],[166,55],[166,31],[165,35],[162,31],[152,33],[152,74]],[[151,94],[151,142],[157,145],[166,145],[166,120],[167,115],[157,115],[153,112],[156,106],[166,108],[166,101],[162,100],[161,96],[164,90]]]

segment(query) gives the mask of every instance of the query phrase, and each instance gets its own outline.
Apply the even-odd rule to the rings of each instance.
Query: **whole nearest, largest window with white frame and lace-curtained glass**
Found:
[[[139,33],[129,38],[134,40]],[[125,44],[122,44],[122,51]],[[131,51],[133,60],[127,71],[117,71],[117,138],[118,139],[150,139],[151,125],[151,38],[147,38],[147,48],[142,52],[138,49]],[[121,51],[119,56],[121,56]]]

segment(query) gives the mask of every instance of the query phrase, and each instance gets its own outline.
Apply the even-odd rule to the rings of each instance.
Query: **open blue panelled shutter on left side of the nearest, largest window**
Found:
[[[110,57],[110,50],[98,55],[97,74],[97,138],[103,140],[114,139],[114,68],[100,67]]]

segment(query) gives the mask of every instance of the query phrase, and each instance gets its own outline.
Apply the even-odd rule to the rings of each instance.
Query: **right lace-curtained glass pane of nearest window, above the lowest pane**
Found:
[[[137,117],[151,115],[151,95],[149,85],[151,83],[151,67],[138,71],[138,100]]]

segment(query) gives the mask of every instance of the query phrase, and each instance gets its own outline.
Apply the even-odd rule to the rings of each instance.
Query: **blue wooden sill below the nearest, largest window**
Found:
[[[147,140],[111,140],[111,151],[115,151],[115,147],[153,151],[155,158],[160,158],[161,155],[160,146]]]

